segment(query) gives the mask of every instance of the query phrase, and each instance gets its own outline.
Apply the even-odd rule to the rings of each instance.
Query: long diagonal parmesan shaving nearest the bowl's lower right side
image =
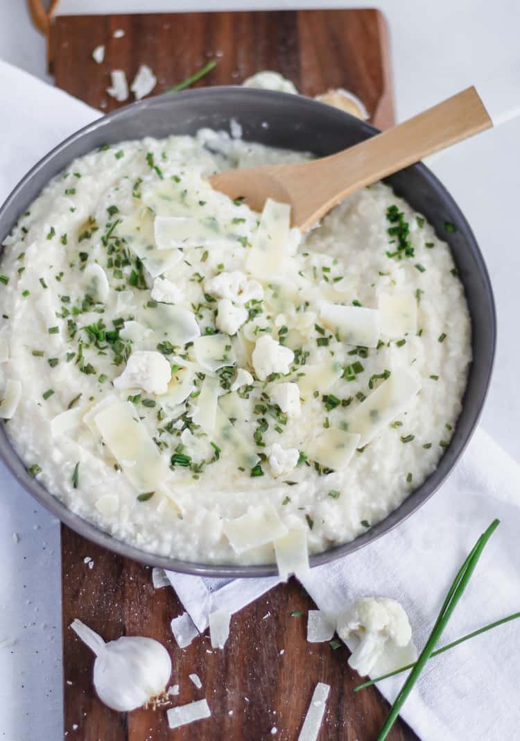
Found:
[[[396,368],[389,379],[361,402],[347,417],[350,432],[358,433],[359,448],[374,439],[404,411],[419,393],[421,384],[404,368]]]

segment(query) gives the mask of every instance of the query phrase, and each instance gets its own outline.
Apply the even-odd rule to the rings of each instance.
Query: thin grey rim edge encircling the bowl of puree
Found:
[[[253,96],[258,99],[265,99],[266,101],[276,102],[276,100],[278,100],[279,102],[283,102],[286,105],[290,104],[291,101],[296,102],[297,100],[300,106],[303,105],[303,107],[314,109],[316,109],[317,107],[321,107],[323,109],[323,113],[327,113],[329,117],[331,116],[331,107],[329,105],[321,103],[319,101],[315,101],[314,99],[307,98],[306,96],[295,96],[290,93],[281,93],[276,90],[259,90],[234,85],[199,87],[193,90],[184,90],[180,93],[175,93],[174,96],[172,95],[172,100],[176,101],[205,97],[210,98],[213,96],[218,97],[219,95],[232,97]],[[131,115],[133,112],[138,112],[139,110],[143,110],[145,108],[153,108],[159,106],[160,104],[164,104],[165,97],[165,94],[153,96],[139,102],[128,104],[124,107],[112,111],[111,113],[107,113],[104,116],[101,115],[98,119],[95,119],[93,122],[86,124],[84,127],[81,127],[70,136],[67,136],[66,139],[59,142],[59,144],[57,144],[46,155],[39,159],[39,161],[36,162],[36,164],[33,165],[33,167],[31,167],[30,170],[28,170],[28,172],[21,178],[17,185],[13,187],[13,190],[11,190],[11,192],[7,196],[7,199],[5,199],[4,203],[0,207],[0,225],[1,220],[5,216],[5,214],[8,213],[9,210],[14,207],[14,205],[16,205],[16,201],[19,198],[19,195],[23,193],[26,185],[30,183],[33,177],[36,176],[36,174],[39,173],[39,171],[43,167],[45,167],[49,162],[55,159],[56,156],[64,152],[64,150],[67,150],[67,148],[70,147],[72,144],[83,139],[85,136],[87,136],[87,134],[95,131],[99,127],[110,125],[113,122],[117,123],[119,119],[124,119],[126,116]],[[339,109],[333,110],[335,112],[336,118],[338,118],[339,120],[345,120],[345,118],[351,119],[351,121],[356,122],[356,125],[359,126],[359,130],[367,134],[367,136],[375,136],[377,133],[379,133],[379,129],[372,126],[371,124],[368,124],[367,122],[356,119],[356,117],[352,116],[350,113]],[[441,456],[441,459],[439,459],[440,462],[440,460],[446,457],[449,458],[449,462],[447,463],[448,468],[444,476],[441,476],[441,478],[436,481],[433,486],[426,486],[432,476],[435,476],[435,473],[438,470],[438,467],[436,467],[433,473],[430,474],[430,476],[428,476],[427,479],[425,479],[418,488],[410,492],[407,498],[404,499],[403,502],[401,502],[399,507],[391,511],[384,519],[381,520],[381,522],[373,525],[373,527],[370,528],[366,534],[362,534],[361,536],[356,537],[356,539],[350,542],[334,545],[332,548],[329,548],[326,551],[322,551],[319,554],[310,556],[311,568],[352,554],[356,551],[359,551],[360,548],[364,548],[364,546],[368,545],[369,543],[375,542],[376,540],[381,538],[381,536],[384,536],[388,532],[392,531],[394,528],[400,525],[401,522],[404,522],[410,516],[412,516],[419,508],[421,508],[422,505],[424,505],[425,502],[427,502],[428,499],[430,499],[431,496],[433,496],[433,494],[435,494],[436,491],[438,491],[440,486],[444,484],[444,482],[446,482],[446,480],[449,478],[449,476],[453,472],[453,468],[455,467],[456,462],[459,460],[462,453],[464,453],[465,449],[467,448],[467,445],[470,442],[470,439],[472,438],[473,433],[476,429],[476,425],[479,422],[482,409],[484,407],[484,402],[487,398],[487,392],[490,387],[490,379],[493,373],[493,366],[496,355],[496,303],[493,295],[493,288],[490,282],[490,276],[484,262],[484,257],[482,256],[479,244],[476,241],[473,230],[467,222],[467,219],[465,218],[459,206],[456,204],[453,196],[451,196],[451,194],[448,192],[447,188],[444,187],[441,181],[422,162],[419,162],[416,165],[411,165],[410,168],[407,169],[419,170],[419,173],[421,174],[424,182],[427,183],[427,186],[431,190],[434,190],[437,193],[441,193],[442,199],[450,210],[450,213],[456,214],[457,224],[464,228],[464,233],[466,234],[467,239],[472,242],[473,257],[476,262],[477,272],[479,273],[481,281],[484,284],[488,301],[490,319],[490,343],[489,347],[487,348],[487,373],[485,374],[484,382],[481,383],[478,404],[471,412],[467,435],[461,442],[459,442],[459,445],[457,446],[455,451],[453,451],[452,449],[455,446],[450,446],[450,448],[447,448],[447,451],[444,453],[444,455]],[[19,213],[19,210],[16,211],[16,213]],[[5,236],[7,236],[9,230],[12,227],[13,220],[10,222],[10,225],[8,225],[7,232],[4,235],[0,234],[1,241],[3,241]],[[447,236],[446,241],[448,241],[448,239],[449,236]],[[0,258],[1,250],[3,250],[3,248],[1,247],[0,242]],[[71,528],[73,531],[76,531],[77,534],[87,538],[96,545],[107,548],[109,551],[118,556],[124,556],[126,558],[133,559],[134,561],[141,562],[144,565],[156,566],[159,568],[164,568],[167,571],[176,571],[180,574],[191,574],[193,576],[213,576],[231,579],[259,576],[276,576],[278,574],[276,564],[204,564],[200,562],[184,561],[183,559],[179,558],[161,556],[159,554],[153,554],[148,551],[143,551],[136,545],[132,545],[130,543],[119,540],[118,538],[116,538],[116,536],[111,535],[107,531],[101,530],[101,528],[99,528],[93,522],[90,522],[89,520],[79,516],[79,514],[74,513],[67,507],[67,505],[61,502],[60,499],[51,494],[50,491],[48,491],[46,488],[44,488],[41,483],[30,476],[30,474],[26,471],[24,462],[19,457],[16,448],[11,445],[4,429],[2,430],[2,434],[0,436],[0,459],[4,462],[6,468],[10,471],[10,473],[13,474],[15,479],[25,489],[25,491],[31,494],[31,496],[33,496],[36,501],[47,508],[47,510],[49,510],[52,514],[55,514],[64,525],[67,525],[67,527]],[[425,488],[427,489],[427,491],[423,491]]]

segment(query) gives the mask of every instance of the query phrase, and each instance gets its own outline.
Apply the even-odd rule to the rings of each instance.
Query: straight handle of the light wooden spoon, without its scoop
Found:
[[[304,205],[310,221],[296,223],[308,227],[354,190],[492,126],[475,87],[468,87],[399,126],[305,165],[313,182]]]

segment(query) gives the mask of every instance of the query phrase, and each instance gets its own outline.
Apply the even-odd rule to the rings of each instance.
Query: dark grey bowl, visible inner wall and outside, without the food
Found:
[[[229,131],[232,118],[243,127],[246,140],[274,147],[312,151],[318,156],[332,154],[377,133],[374,127],[333,107],[301,96],[267,90],[212,87],[148,99],[89,124],[41,159],[16,186],[0,209],[0,243],[47,182],[76,157],[89,153],[101,144],[116,144],[125,139],[141,139],[144,136],[161,138],[170,134],[193,135],[201,127]],[[399,525],[429,499],[452,471],[470,440],[484,405],[493,369],[496,345],[493,290],[479,246],[461,210],[441,182],[424,165],[407,167],[390,177],[388,183],[399,196],[424,213],[439,237],[450,243],[473,323],[473,363],[456,431],[436,471],[399,508],[366,534],[353,542],[337,545],[312,556],[310,560],[313,566],[353,553],[373,542]],[[444,222],[456,225],[456,231],[446,233]],[[141,551],[73,514],[59,499],[30,477],[25,471],[24,463],[10,445],[3,426],[0,433],[0,457],[21,485],[62,522],[116,554],[148,565],[199,576],[276,574],[276,567],[273,565],[206,565]]]

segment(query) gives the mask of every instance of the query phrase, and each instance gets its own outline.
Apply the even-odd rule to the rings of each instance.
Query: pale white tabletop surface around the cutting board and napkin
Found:
[[[90,0],[89,10],[221,10],[233,7],[356,7],[356,3]],[[390,42],[399,120],[518,59],[516,0],[381,0]],[[84,12],[84,0],[61,0],[61,12]],[[100,41],[96,40],[96,43]],[[45,44],[30,26],[23,0],[0,4],[0,58],[42,79]],[[1,82],[1,81],[0,81]],[[520,91],[520,80],[518,85]],[[1,113],[1,111],[0,111]],[[517,212],[520,122],[481,134],[436,159],[441,177],[467,216],[490,270],[499,313],[496,371],[482,425],[520,461],[518,393]],[[9,142],[0,142],[0,147]],[[0,738],[61,737],[59,526],[0,469]],[[13,532],[20,542],[13,541]],[[87,567],[85,567],[87,568]],[[108,741],[108,740],[107,740]]]

